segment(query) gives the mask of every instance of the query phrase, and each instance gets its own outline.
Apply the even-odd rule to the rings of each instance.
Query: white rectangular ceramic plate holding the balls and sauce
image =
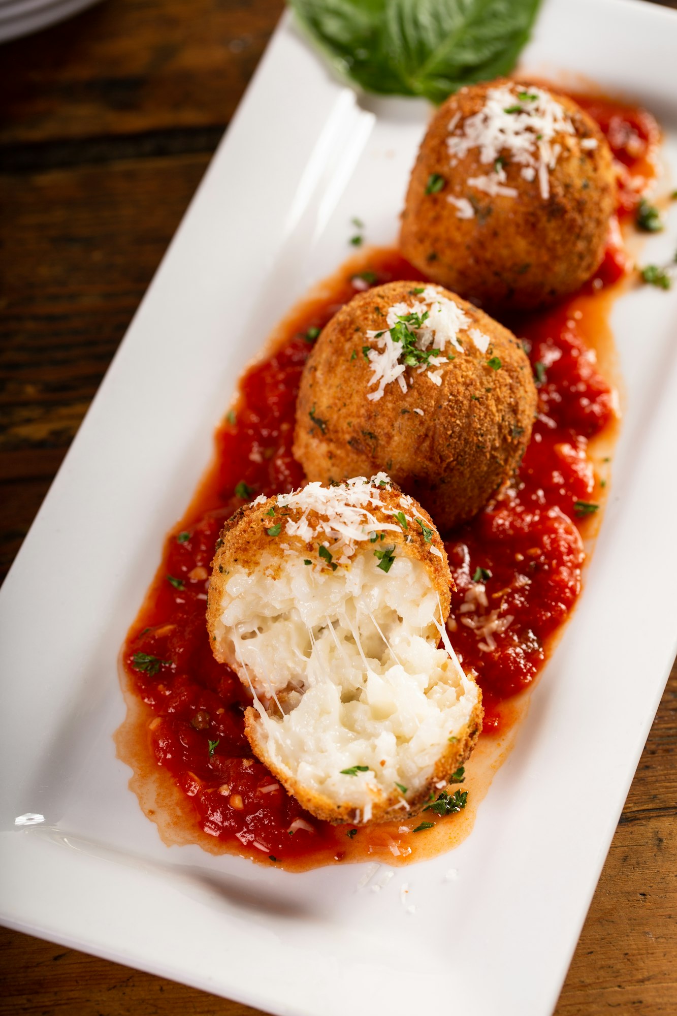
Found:
[[[671,11],[549,0],[522,64],[644,103],[677,180],[675,54]],[[358,101],[283,21],[1,592],[6,924],[276,1014],[404,1016],[431,992],[464,1016],[552,1010],[676,648],[677,291],[615,307],[627,409],[587,588],[452,855],[374,893],[355,867],[165,847],[111,737],[119,646],[242,367],[352,216],[394,240],[427,116]],[[674,204],[645,259],[676,238]]]

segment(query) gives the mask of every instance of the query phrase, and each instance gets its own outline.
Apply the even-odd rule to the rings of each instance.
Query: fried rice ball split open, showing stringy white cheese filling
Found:
[[[226,524],[212,567],[214,656],[251,692],[245,733],[289,792],[355,824],[437,796],[483,710],[446,633],[451,575],[421,506],[384,472],[261,496]]]

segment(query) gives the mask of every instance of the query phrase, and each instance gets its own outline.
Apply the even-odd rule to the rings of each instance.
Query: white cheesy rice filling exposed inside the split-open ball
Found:
[[[254,695],[274,766],[364,821],[397,783],[406,810],[478,688],[440,632],[421,562],[399,547],[387,573],[371,548],[335,572],[303,561],[288,552],[251,575],[232,570],[217,636]]]

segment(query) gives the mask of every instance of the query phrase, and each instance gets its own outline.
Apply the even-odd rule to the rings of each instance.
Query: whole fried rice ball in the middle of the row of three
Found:
[[[354,297],[317,339],[294,455],[323,483],[386,469],[447,531],[510,478],[536,403],[507,328],[439,285],[388,282]]]

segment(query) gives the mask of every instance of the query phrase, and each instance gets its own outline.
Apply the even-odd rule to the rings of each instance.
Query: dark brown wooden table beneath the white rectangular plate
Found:
[[[106,0],[0,48],[3,573],[282,7]],[[676,707],[673,670],[558,1016],[677,1013]],[[0,945],[0,1014],[253,1013],[25,935]]]

